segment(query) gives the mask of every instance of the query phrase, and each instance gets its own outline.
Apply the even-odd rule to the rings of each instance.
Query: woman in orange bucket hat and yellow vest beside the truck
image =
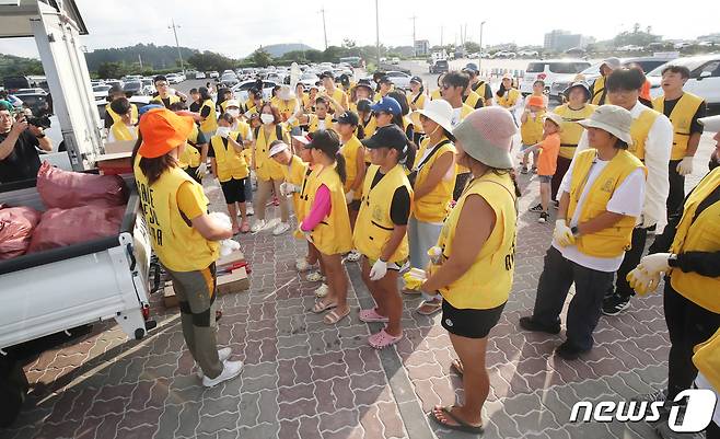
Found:
[[[232,351],[218,350],[216,340],[217,241],[232,230],[207,213],[202,186],[177,165],[193,126],[190,117],[150,109],[140,118],[132,163],[152,250],[173,280],[185,343],[210,388],[237,377],[243,363],[228,361]]]

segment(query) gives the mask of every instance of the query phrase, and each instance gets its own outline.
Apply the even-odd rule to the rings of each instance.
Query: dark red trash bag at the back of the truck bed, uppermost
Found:
[[[80,206],[114,207],[128,203],[128,187],[119,175],[62,171],[44,162],[37,172],[37,192],[48,209]]]

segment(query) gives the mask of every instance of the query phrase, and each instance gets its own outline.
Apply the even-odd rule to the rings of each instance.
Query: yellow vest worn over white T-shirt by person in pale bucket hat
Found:
[[[597,150],[588,149],[580,151],[574,158],[574,167],[572,169],[572,180],[570,182],[568,221],[574,216],[590,175],[590,169],[596,157]],[[641,167],[647,174],[647,170],[638,158],[626,150],[618,150],[617,155],[607,163],[595,178],[590,190],[588,190],[578,223],[583,223],[605,212],[607,203],[613,197],[615,189],[638,167]],[[576,244],[580,252],[589,256],[617,257],[630,249],[634,228],[635,217],[625,216],[611,228],[579,236],[576,239]]]

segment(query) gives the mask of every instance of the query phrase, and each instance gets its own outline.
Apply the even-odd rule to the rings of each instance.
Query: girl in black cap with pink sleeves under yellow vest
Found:
[[[307,189],[305,217],[298,229],[321,254],[321,265],[327,276],[327,296],[313,307],[320,314],[330,310],[323,321],[334,325],[350,314],[348,275],[342,255],[352,247],[350,218],[345,201],[345,159],[340,139],[334,130],[320,130],[307,145],[313,162],[318,166]]]

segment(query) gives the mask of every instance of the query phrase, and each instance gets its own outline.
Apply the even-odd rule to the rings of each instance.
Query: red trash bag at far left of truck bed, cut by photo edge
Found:
[[[0,205],[0,261],[22,256],[27,252],[40,215],[32,207]]]

